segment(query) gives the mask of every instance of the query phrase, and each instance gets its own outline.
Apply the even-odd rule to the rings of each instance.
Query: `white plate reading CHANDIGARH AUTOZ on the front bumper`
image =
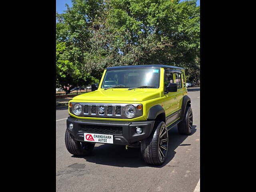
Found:
[[[112,143],[114,136],[105,134],[84,133],[84,141],[96,143]]]

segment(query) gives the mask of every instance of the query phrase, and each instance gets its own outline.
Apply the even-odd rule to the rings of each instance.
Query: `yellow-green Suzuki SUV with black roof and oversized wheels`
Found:
[[[65,143],[76,156],[95,143],[140,147],[148,164],[163,164],[168,130],[191,134],[193,116],[184,68],[133,65],[104,70],[98,90],[69,102]]]

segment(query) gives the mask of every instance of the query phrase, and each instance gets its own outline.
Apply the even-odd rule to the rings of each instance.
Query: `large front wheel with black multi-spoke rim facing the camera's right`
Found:
[[[168,130],[166,124],[164,122],[156,122],[152,134],[141,141],[142,159],[147,164],[161,165],[166,160],[167,152]]]

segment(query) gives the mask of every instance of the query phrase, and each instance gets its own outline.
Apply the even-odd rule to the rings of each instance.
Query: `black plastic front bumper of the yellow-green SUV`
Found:
[[[69,124],[73,124],[70,130]],[[150,136],[154,126],[154,121],[124,122],[124,121],[102,121],[84,120],[73,117],[67,119],[67,129],[74,136],[75,140],[84,142],[84,132],[96,134],[114,135],[114,144],[132,145]],[[86,127],[87,130],[84,130]],[[136,127],[143,129],[141,134],[136,133]],[[95,131],[100,130],[100,131]],[[118,132],[116,131],[118,130]],[[122,131],[121,131],[122,130]]]

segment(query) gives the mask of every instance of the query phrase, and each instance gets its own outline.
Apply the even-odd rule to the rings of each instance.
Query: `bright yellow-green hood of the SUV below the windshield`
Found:
[[[145,101],[160,97],[158,90],[96,90],[75,96],[73,100],[94,100],[94,101]]]

